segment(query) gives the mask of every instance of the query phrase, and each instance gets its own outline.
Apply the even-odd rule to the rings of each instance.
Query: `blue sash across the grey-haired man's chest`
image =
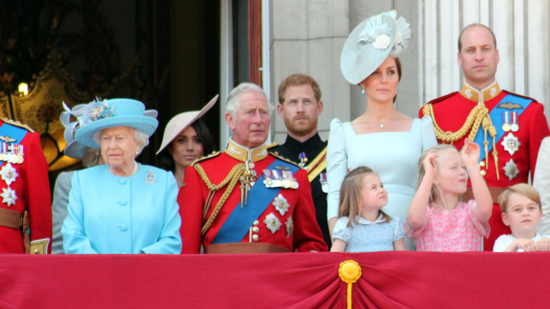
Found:
[[[300,168],[294,164],[275,159],[266,169],[275,169],[275,166],[284,166],[290,168],[293,174]],[[248,191],[248,202],[243,208],[240,202],[237,207],[229,214],[224,225],[219,229],[214,237],[215,243],[240,243],[250,230],[250,226],[264,211],[271,205],[276,195],[281,192],[281,188],[266,188],[264,185],[264,174],[260,173],[256,183]],[[234,190],[234,189],[233,189]]]

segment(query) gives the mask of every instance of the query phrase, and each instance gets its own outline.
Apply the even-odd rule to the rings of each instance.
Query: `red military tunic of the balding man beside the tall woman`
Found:
[[[510,97],[507,97],[508,95]],[[523,108],[512,102],[515,102],[517,99],[527,102],[526,107]],[[482,159],[479,162],[481,173],[484,175],[489,190],[491,190],[494,201],[493,213],[491,219],[489,219],[491,234],[489,235],[489,239],[484,241],[484,250],[492,251],[496,238],[501,234],[511,233],[508,226],[505,226],[502,222],[501,209],[496,203],[498,194],[503,188],[507,188],[508,186],[516,183],[527,183],[529,173],[534,174],[534,166],[537,163],[537,154],[539,153],[542,139],[550,135],[550,131],[544,117],[544,107],[542,104],[529,97],[522,97],[512,92],[501,90],[496,82],[481,91],[465,83],[460,92],[453,92],[450,95],[428,102],[424,105],[423,109],[420,109],[419,116],[432,116],[438,141],[439,143],[444,143],[441,141],[441,136],[438,135],[437,126],[444,133],[459,131],[465,124],[472,109],[479,104],[478,102],[485,104],[485,107],[489,110],[493,126],[496,128],[500,127],[501,131],[503,131],[504,123],[513,123],[512,112],[520,113],[518,121],[515,122],[518,125],[518,130],[515,132],[503,131],[501,138],[495,140],[494,143],[494,150],[496,150],[498,156],[499,178],[497,178],[497,167],[492,150],[489,150],[487,156],[489,158],[488,164],[486,159]],[[431,112],[429,111],[430,105],[432,107]],[[474,126],[472,123],[471,128],[468,128],[462,137],[453,142],[453,145],[458,150],[463,147],[465,138],[468,137]],[[482,124],[479,125],[478,131],[484,134]],[[489,132],[487,132],[487,141],[489,142],[489,147],[492,147],[493,140]],[[479,147],[481,148],[482,155],[484,155],[483,143],[479,143]],[[468,186],[471,186],[470,181],[468,181]]]

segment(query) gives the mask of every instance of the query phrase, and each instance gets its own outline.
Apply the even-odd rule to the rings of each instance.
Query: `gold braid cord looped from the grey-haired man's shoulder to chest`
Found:
[[[214,195],[216,191],[220,190],[221,188],[224,188],[229,183],[229,186],[227,186],[226,190],[224,191],[224,194],[221,195],[221,198],[218,201],[218,204],[214,208],[214,212],[210,215],[207,222],[202,226],[202,229],[200,230],[200,235],[204,236],[208,229],[210,229],[210,226],[212,225],[212,222],[214,222],[214,219],[218,216],[219,211],[221,210],[221,207],[226,202],[228,196],[233,191],[233,188],[235,188],[235,185],[237,184],[237,181],[239,180],[239,177],[245,172],[246,165],[244,163],[237,164],[236,166],[233,166],[233,169],[229,171],[229,174],[224,179],[224,181],[221,181],[219,185],[214,185],[210,179],[208,178],[207,174],[204,172],[204,169],[202,169],[202,166],[200,164],[195,163],[193,165],[195,167],[195,171],[199,174],[200,178],[202,178],[202,181],[207,185],[208,190],[210,190],[209,198],[207,201],[207,205],[204,205],[204,213],[207,212],[208,207],[210,206],[210,202],[212,202],[212,198],[210,195]]]

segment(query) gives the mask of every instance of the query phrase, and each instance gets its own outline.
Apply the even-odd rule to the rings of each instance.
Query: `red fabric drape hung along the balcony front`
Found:
[[[549,253],[0,255],[0,308],[546,308]]]

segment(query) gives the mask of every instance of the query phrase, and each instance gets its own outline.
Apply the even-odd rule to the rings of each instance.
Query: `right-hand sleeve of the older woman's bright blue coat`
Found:
[[[178,185],[172,172],[166,173],[166,189],[164,192],[164,225],[159,241],[142,249],[143,253],[180,254],[181,253],[181,217],[178,198]]]

